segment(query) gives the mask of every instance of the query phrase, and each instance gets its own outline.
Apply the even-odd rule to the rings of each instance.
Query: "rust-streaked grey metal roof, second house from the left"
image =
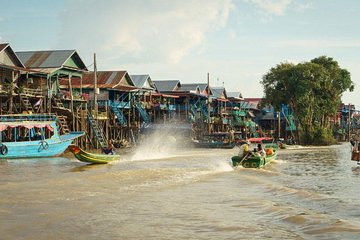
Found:
[[[81,70],[87,70],[75,50],[24,51],[16,52],[27,68],[60,68],[73,57]]]

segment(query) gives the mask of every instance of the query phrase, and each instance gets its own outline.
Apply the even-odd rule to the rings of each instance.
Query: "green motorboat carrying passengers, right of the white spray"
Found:
[[[269,149],[271,148],[271,151]],[[233,166],[241,165],[244,168],[261,168],[271,161],[275,160],[278,153],[278,148],[272,146],[265,146],[265,156],[257,155],[257,153],[251,153],[250,156],[242,158],[240,156],[233,156],[231,161]]]

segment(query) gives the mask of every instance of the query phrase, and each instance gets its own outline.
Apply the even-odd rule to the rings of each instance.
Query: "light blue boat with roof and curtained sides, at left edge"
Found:
[[[74,139],[84,135],[60,135],[58,130],[55,115],[0,115],[0,159],[59,156]]]

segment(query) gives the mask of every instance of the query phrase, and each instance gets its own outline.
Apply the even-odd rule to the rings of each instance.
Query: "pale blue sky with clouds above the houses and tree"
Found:
[[[0,42],[78,52],[89,70],[224,86],[262,97],[277,64],[332,57],[360,108],[358,0],[0,0]]]

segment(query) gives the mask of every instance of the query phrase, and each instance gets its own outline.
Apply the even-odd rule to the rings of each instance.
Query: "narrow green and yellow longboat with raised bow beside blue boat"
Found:
[[[120,155],[89,153],[82,150],[80,147],[76,145],[70,145],[69,150],[74,154],[74,156],[79,161],[92,163],[92,164],[105,164],[111,161],[120,160]]]

